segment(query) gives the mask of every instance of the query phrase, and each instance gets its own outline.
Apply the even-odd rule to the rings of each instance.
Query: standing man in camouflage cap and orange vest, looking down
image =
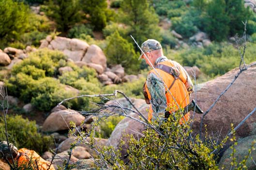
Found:
[[[144,53],[142,52],[138,59],[144,58],[146,63],[154,68],[149,72],[143,86],[146,103],[151,104],[148,119],[154,121],[168,118],[179,108],[189,105],[193,83],[179,63],[164,56],[162,46],[157,40],[146,40],[142,43],[141,50]],[[189,120],[188,111],[180,123],[182,120]]]

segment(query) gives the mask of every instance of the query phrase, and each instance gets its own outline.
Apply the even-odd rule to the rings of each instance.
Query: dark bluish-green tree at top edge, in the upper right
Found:
[[[212,0],[208,5],[205,30],[213,40],[221,41],[229,33],[230,19],[225,10],[225,0]]]

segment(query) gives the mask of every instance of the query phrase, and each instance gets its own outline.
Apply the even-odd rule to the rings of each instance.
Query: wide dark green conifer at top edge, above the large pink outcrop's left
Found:
[[[49,0],[46,14],[52,17],[59,30],[64,32],[81,21],[78,0]]]

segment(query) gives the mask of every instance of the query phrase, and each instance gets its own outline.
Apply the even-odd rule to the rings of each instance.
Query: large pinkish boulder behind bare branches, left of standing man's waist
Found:
[[[144,105],[139,108],[139,111],[144,115],[144,117],[148,118],[148,109],[149,105]],[[130,113],[129,116],[140,119],[135,113]],[[131,118],[124,118],[117,124],[114,131],[111,133],[107,145],[111,145],[115,149],[119,149],[121,147],[120,157],[123,157],[127,154],[126,150],[129,147],[129,136],[133,135],[134,138],[138,140],[141,137],[141,132],[144,130],[145,128],[142,123]],[[125,144],[120,144],[121,140],[126,141]],[[127,158],[124,161],[127,162]]]

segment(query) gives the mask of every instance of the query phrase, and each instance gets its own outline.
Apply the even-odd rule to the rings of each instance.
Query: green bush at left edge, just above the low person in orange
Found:
[[[49,136],[38,133],[35,121],[29,121],[21,116],[9,116],[6,119],[10,143],[17,148],[28,148],[43,154],[48,150],[53,140]],[[6,140],[5,125],[3,118],[0,118],[0,141]]]

